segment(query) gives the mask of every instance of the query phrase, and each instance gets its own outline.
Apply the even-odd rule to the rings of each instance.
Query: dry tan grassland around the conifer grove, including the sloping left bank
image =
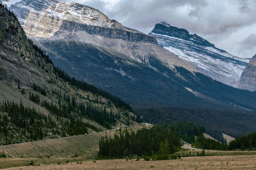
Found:
[[[130,127],[132,130],[144,127]],[[116,131],[109,131],[113,135]],[[0,146],[7,158],[0,159],[0,168],[9,169],[255,169],[256,151],[205,150],[205,157],[196,157],[201,150],[181,149],[176,160],[94,160],[99,139],[105,132],[86,136],[48,139],[30,143]]]

